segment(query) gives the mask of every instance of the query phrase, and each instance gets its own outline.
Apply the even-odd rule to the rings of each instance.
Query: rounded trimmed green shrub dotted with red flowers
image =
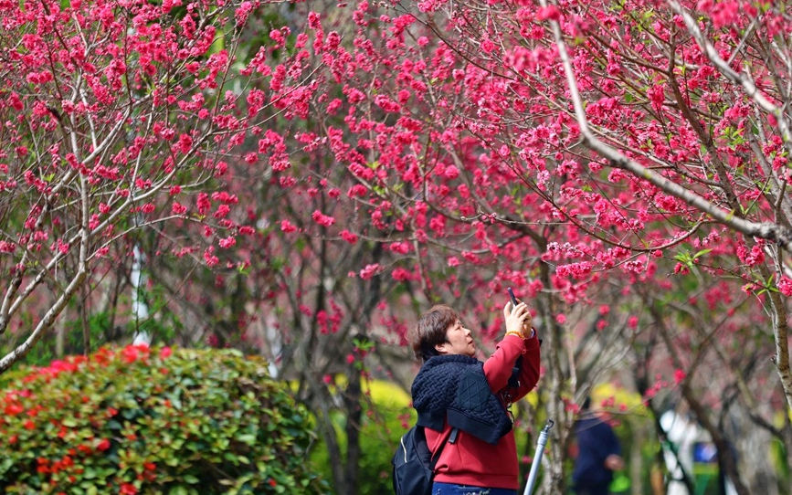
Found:
[[[308,413],[258,357],[106,347],[0,383],[3,493],[326,491]]]

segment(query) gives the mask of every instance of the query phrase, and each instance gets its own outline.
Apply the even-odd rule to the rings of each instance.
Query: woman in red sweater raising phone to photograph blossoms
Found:
[[[423,365],[413,405],[429,450],[440,452],[432,495],[516,495],[520,488],[509,406],[539,380],[539,339],[524,302],[507,302],[503,317],[506,333],[483,363],[474,357],[470,330],[449,306],[435,306],[417,322],[413,350]]]

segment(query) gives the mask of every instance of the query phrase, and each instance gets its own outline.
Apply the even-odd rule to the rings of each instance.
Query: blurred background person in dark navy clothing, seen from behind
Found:
[[[586,397],[575,422],[577,457],[572,472],[577,495],[607,495],[614,471],[624,469],[621,445],[607,420],[591,411],[591,397]]]

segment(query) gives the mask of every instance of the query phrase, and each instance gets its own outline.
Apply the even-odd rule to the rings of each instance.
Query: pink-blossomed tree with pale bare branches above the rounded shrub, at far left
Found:
[[[8,280],[0,333],[19,332],[21,315],[43,308],[0,371],[130,257],[135,231],[193,225],[193,236],[163,254],[210,267],[238,235],[253,233],[229,217],[238,198],[221,190],[234,180],[226,156],[309,94],[304,79],[316,68],[289,57],[270,67],[266,49],[235,66],[260,5],[0,4],[0,269]],[[269,93],[245,90],[260,79]]]

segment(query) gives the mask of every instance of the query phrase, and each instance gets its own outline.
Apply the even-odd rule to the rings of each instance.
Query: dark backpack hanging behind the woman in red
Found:
[[[456,429],[456,428],[455,428]],[[452,436],[456,437],[456,435]],[[440,452],[445,444],[438,450],[435,458],[427,444],[424,427],[411,427],[401,437],[399,447],[393,456],[393,490],[396,495],[431,495],[432,479],[434,478],[435,464],[438,462]]]

